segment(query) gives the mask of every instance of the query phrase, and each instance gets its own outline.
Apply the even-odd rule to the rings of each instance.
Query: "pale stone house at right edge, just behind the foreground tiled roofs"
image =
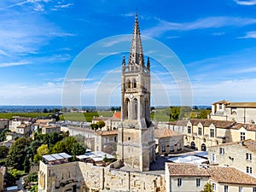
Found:
[[[256,142],[251,139],[212,146],[208,148],[208,157],[212,164],[234,166],[256,177]]]

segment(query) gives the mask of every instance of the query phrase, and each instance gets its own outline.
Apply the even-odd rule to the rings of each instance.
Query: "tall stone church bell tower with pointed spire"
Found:
[[[125,166],[148,171],[154,160],[154,125],[150,120],[150,61],[145,65],[137,15],[128,63],[122,62],[122,123],[118,129],[118,155]]]

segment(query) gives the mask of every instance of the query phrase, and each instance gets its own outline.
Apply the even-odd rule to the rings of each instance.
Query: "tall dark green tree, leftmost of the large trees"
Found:
[[[7,165],[15,169],[24,170],[23,163],[26,158],[26,148],[29,146],[29,139],[25,137],[18,138],[10,147],[7,155]]]

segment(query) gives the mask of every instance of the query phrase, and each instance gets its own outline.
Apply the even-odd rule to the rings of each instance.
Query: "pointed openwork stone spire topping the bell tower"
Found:
[[[144,66],[143,59],[143,45],[141,39],[140,27],[138,24],[137,13],[135,15],[135,22],[133,27],[133,35],[131,39],[131,49],[128,65],[140,65]]]

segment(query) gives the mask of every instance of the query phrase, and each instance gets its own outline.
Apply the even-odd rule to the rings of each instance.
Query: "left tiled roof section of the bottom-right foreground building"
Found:
[[[170,176],[206,176],[210,177],[210,174],[203,167],[199,167],[194,164],[184,163],[167,163]]]

